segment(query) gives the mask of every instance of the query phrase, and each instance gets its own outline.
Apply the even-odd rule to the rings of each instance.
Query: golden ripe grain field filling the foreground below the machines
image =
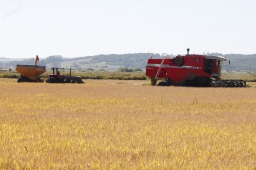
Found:
[[[0,169],[256,168],[256,88],[0,79]]]

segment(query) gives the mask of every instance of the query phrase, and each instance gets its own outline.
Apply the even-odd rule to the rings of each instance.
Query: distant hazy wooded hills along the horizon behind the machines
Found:
[[[221,54],[210,53],[212,55],[225,56],[231,61],[231,65],[224,63],[224,71],[256,71],[256,54]],[[150,57],[162,58],[160,54],[153,53],[135,53],[135,54],[109,54],[96,55],[76,58],[64,58],[62,56],[49,56],[38,61],[38,65],[46,65],[47,68],[59,66],[64,68],[73,68],[77,70],[99,70],[114,71],[119,67],[134,67],[145,69],[147,60]],[[6,59],[0,58],[0,65],[3,67],[14,68],[17,64],[34,64],[34,58],[30,59]]]

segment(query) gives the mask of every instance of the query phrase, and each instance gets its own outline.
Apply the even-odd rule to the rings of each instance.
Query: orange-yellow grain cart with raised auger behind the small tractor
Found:
[[[36,65],[37,61],[39,61],[39,57],[35,57],[34,65],[20,65],[17,64],[16,70],[21,74],[18,78],[17,82],[43,82],[39,76],[43,74],[46,69],[45,66]]]

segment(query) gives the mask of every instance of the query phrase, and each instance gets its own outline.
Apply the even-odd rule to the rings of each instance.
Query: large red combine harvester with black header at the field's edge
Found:
[[[196,87],[246,87],[241,79],[221,80],[221,69],[226,57],[189,54],[163,59],[148,59],[146,76],[153,82],[166,79],[157,85],[178,85]]]

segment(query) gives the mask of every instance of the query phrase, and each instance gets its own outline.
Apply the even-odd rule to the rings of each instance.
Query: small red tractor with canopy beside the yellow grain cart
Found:
[[[49,83],[84,83],[82,78],[79,76],[71,76],[71,68],[70,68],[70,75],[65,76],[61,75],[58,70],[64,69],[63,67],[51,67],[52,74],[48,75],[46,82]]]

